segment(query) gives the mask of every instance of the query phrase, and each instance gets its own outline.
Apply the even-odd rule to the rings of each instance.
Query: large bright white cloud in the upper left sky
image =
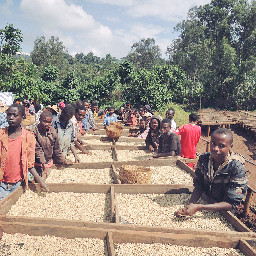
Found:
[[[22,0],[20,9],[24,17],[38,24],[44,35],[58,36],[72,55],[75,51],[87,54],[92,49],[95,55],[103,57],[105,47],[108,53],[121,58],[129,51],[108,26],[96,22],[82,6],[68,5],[64,0]]]

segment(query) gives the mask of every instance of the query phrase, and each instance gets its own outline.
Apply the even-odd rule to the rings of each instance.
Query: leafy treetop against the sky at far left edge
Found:
[[[23,42],[21,35],[21,31],[15,29],[13,24],[5,25],[5,28],[0,29],[0,55],[6,54],[11,57],[20,52],[20,42]]]

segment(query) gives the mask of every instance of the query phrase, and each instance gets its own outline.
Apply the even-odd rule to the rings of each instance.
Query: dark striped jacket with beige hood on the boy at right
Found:
[[[233,208],[239,205],[245,196],[248,180],[244,168],[245,160],[229,152],[229,156],[214,174],[213,158],[210,152],[199,156],[195,171],[194,187],[217,202],[227,202]]]

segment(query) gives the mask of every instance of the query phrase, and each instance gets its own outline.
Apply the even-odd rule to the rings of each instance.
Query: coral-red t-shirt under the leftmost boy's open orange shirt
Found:
[[[5,171],[3,181],[7,183],[16,183],[23,178],[21,161],[21,142],[22,134],[14,139],[8,138],[8,151],[5,162]]]

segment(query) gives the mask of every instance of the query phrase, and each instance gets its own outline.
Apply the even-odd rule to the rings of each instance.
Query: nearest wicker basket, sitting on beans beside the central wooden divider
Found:
[[[137,165],[121,165],[119,178],[126,184],[148,184],[151,179],[152,170]]]

